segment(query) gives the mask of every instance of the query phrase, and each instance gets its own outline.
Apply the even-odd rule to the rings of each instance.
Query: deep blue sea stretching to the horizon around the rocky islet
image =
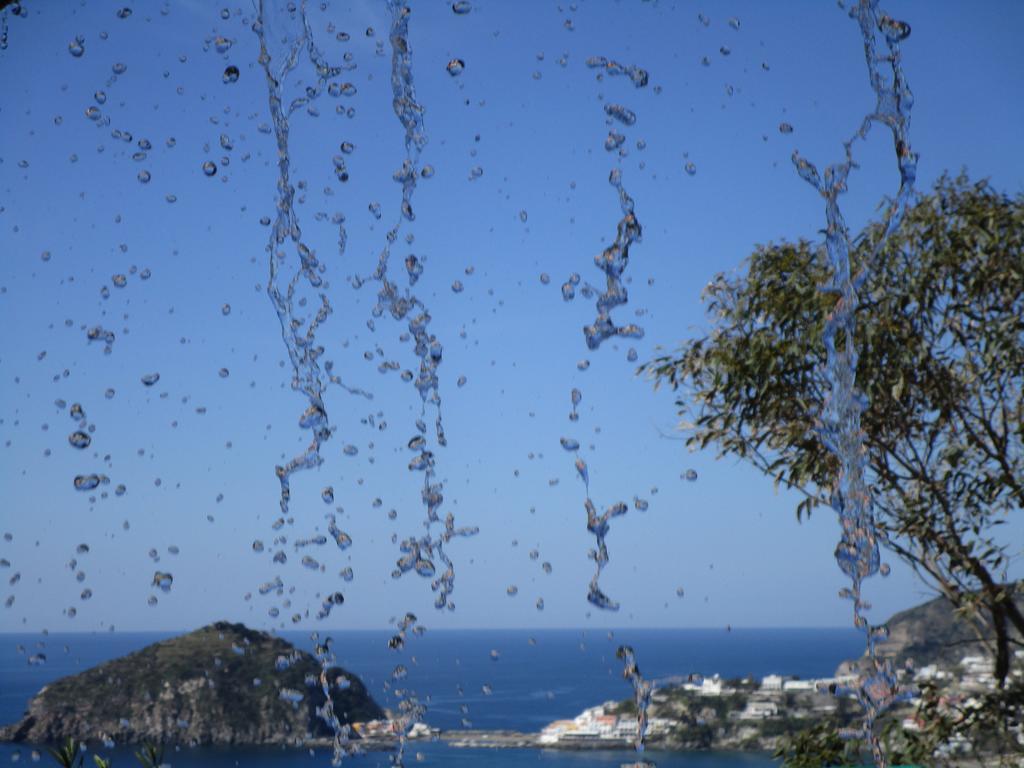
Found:
[[[0,634],[0,722],[16,721],[29,699],[45,684],[125,655],[178,633]],[[307,633],[281,632],[297,647],[310,649]],[[844,659],[863,650],[863,637],[847,629],[686,629],[686,630],[477,630],[432,631],[411,637],[402,651],[387,647],[387,631],[331,634],[341,667],[357,675],[383,707],[393,707],[386,683],[396,664],[409,669],[402,681],[428,707],[426,722],[452,730],[537,731],[553,720],[571,718],[588,707],[629,698],[615,650],[631,645],[647,679],[668,683],[690,674],[723,678],[777,673],[800,678],[827,677]],[[44,654],[42,664],[30,664]],[[39,660],[38,658],[36,659]],[[485,692],[486,691],[486,692]],[[465,721],[465,722],[464,722]],[[128,748],[105,749],[116,768],[135,765]],[[563,752],[451,748],[443,742],[412,741],[408,765],[483,765],[518,768],[618,766],[636,759],[629,751]],[[768,755],[750,753],[666,753],[648,751],[645,760],[660,768],[766,768]],[[174,768],[286,768],[330,765],[324,751],[287,749],[169,748]],[[0,744],[0,765],[51,764],[41,745]],[[384,753],[353,756],[346,764],[370,768],[390,765]],[[89,760],[87,765],[92,765]]]

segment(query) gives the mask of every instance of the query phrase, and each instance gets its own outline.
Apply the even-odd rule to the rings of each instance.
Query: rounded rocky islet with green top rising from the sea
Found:
[[[292,743],[330,734],[316,716],[319,672],[290,643],[221,622],[51,683],[0,739]],[[342,723],[384,716],[358,678],[340,668],[329,675],[338,678],[331,697]]]

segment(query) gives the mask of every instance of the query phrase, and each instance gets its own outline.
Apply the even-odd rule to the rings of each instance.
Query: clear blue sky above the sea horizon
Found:
[[[404,447],[420,406],[411,385],[377,366],[395,359],[413,368],[415,357],[398,338],[399,324],[382,317],[376,330],[368,327],[375,288],[353,290],[349,280],[373,270],[400,201],[391,174],[403,158],[402,132],[391,111],[383,3],[333,2],[312,13],[328,58],[351,53],[355,69],[340,80],[356,93],[325,94],[318,117],[300,113],[292,121],[293,178],[305,182],[297,211],[327,265],[335,309],[318,341],[336,373],[373,399],[330,390],[337,432],[324,465],[293,479],[296,522],[282,531],[285,565],[252,551],[257,539],[276,549],[273,466],[305,439],[297,426],[304,399],[290,389],[263,290],[268,230],[260,218],[273,215],[275,144],[260,129],[270,118],[252,9],[227,5],[225,19],[218,4],[135,3],[119,18],[105,5],[26,2],[28,17],[8,19],[9,45],[0,51],[0,322],[8,329],[0,346],[0,534],[11,541],[0,539],[0,557],[11,565],[0,571],[0,596],[15,600],[0,609],[0,631],[183,629],[218,618],[291,628],[291,613],[314,614],[316,594],[339,589],[346,602],[331,627],[382,627],[407,610],[438,628],[849,622],[848,603],[836,596],[844,582],[831,555],[833,516],[822,511],[798,525],[794,496],[712,452],[687,454],[672,439],[672,395],[637,377],[627,351],[634,346],[642,361],[706,329],[701,288],[737,268],[755,244],[817,237],[822,203],[790,156],[799,148],[819,165],[840,159],[842,140],[872,105],[856,25],[831,3],[784,10],[626,0],[472,6],[467,15],[439,1],[414,6],[410,38],[429,136],[422,160],[436,173],[421,181],[417,220],[402,229],[415,241],[402,241],[393,255],[395,271],[410,252],[424,263],[416,291],[444,345],[442,512],[480,527],[450,547],[457,568],[451,613],[434,612],[426,581],[390,577],[398,557],[392,536],[422,529],[420,478],[407,471]],[[1024,9],[1011,2],[886,7],[913,30],[903,55],[915,94],[920,186],[967,168],[1021,191],[1024,155],[1014,147],[1024,105],[1015,96],[1024,53],[1014,36]],[[346,43],[335,39],[342,31]],[[78,35],[81,57],[69,52]],[[218,52],[218,36],[232,41],[226,52]],[[585,66],[594,55],[643,67],[650,84],[599,81]],[[451,77],[445,65],[456,57],[465,71]],[[115,75],[119,62],[126,70]],[[225,84],[230,65],[240,78]],[[603,148],[610,102],[637,115],[623,131],[623,158]],[[339,104],[353,116],[337,114]],[[90,106],[100,110],[99,121],[86,116]],[[780,133],[782,122],[794,131]],[[152,148],[140,147],[142,139]],[[345,183],[332,166],[341,142],[355,147],[345,156]],[[881,131],[858,158],[844,200],[853,227],[898,183]],[[207,161],[217,164],[214,176],[203,171]],[[482,175],[471,179],[476,167]],[[615,316],[646,335],[591,352],[581,329],[593,319],[593,303],[563,302],[559,286],[572,272],[595,284],[602,276],[593,257],[614,238],[620,218],[607,181],[613,167],[622,168],[644,227],[626,272],[630,302]],[[147,183],[138,180],[142,171]],[[375,203],[384,212],[379,221],[370,211]],[[343,254],[331,223],[338,212]],[[142,280],[145,269],[151,276]],[[127,276],[125,287],[113,284],[115,274]],[[457,280],[461,293],[451,288]],[[110,354],[87,342],[96,325],[117,335]],[[591,366],[582,372],[577,364],[585,358]],[[144,387],[140,377],[153,372],[160,381]],[[566,418],[573,387],[584,395],[577,423]],[[85,451],[69,445],[75,423],[57,399],[80,402],[94,425]],[[616,614],[592,611],[585,600],[593,541],[583,485],[559,446],[563,435],[583,444],[599,507],[649,502],[647,511],[612,523],[602,585],[623,604]],[[355,456],[343,453],[349,444]],[[681,478],[687,469],[698,473],[695,482]],[[89,472],[110,476],[100,488],[109,498],[90,502],[73,488],[72,478]],[[118,483],[127,487],[123,497],[113,494]],[[354,545],[297,552],[294,540],[326,531],[327,485]],[[1009,530],[1021,541],[1019,527]],[[80,544],[89,552],[77,554]],[[304,553],[326,571],[303,568]],[[345,567],[351,582],[338,575]],[[152,586],[156,570],[173,573],[170,592]],[[20,581],[11,586],[15,572]],[[1014,574],[1021,575],[1019,557]],[[276,575],[289,605],[257,593]],[[513,585],[518,594],[509,597]],[[83,601],[85,588],[92,596]],[[866,591],[874,618],[928,596],[896,562]],[[281,611],[276,620],[271,606]]]

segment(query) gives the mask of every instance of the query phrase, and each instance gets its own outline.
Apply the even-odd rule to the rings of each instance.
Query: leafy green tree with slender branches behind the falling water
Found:
[[[1024,197],[943,176],[876,253],[881,237],[871,224],[851,246],[854,273],[870,270],[854,341],[879,536],[994,638],[1002,686],[1024,638],[997,537],[1024,507]],[[758,246],[745,267],[706,289],[710,334],[646,370],[679,391],[688,445],[800,490],[800,519],[827,504],[838,471],[813,430],[836,297],[806,241]]]

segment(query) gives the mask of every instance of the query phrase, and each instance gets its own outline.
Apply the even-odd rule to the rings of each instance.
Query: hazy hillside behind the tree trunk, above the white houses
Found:
[[[1024,608],[1024,593],[1020,589],[1016,602]],[[956,614],[944,597],[894,613],[887,626],[889,638],[880,642],[878,649],[881,655],[892,657],[897,666],[912,658],[918,668],[929,664],[951,667],[966,655],[989,654],[972,626]],[[989,631],[988,639],[991,639],[990,634]],[[1012,637],[1021,639],[1015,632]],[[853,664],[856,662],[844,662],[840,670],[847,670]]]

